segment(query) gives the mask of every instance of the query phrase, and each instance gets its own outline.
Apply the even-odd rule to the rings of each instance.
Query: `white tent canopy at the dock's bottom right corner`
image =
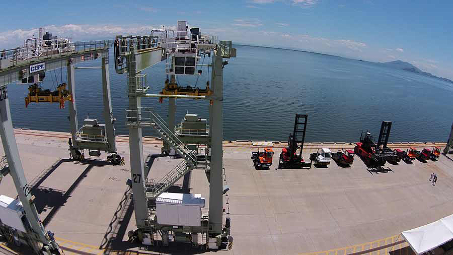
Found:
[[[453,214],[401,234],[415,253],[421,254],[453,239]]]

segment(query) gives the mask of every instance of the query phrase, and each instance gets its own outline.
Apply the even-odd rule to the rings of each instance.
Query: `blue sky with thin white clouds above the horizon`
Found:
[[[39,27],[82,41],[148,34],[188,20],[236,43],[401,59],[453,79],[452,13],[453,1],[16,1],[2,4],[0,48],[18,46]]]

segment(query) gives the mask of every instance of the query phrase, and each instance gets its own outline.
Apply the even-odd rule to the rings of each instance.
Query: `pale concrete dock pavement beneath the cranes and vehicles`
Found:
[[[117,137],[118,152],[125,156],[126,164],[112,166],[90,158],[83,162],[69,160],[67,151],[62,150],[67,147],[67,133],[16,129],[15,134],[40,218],[46,229],[55,232],[65,254],[116,254],[117,250],[128,250],[126,254],[204,252],[190,243],[145,250],[127,242],[127,231],[135,227],[126,186],[130,178],[127,137]],[[162,141],[154,138],[144,139],[144,158],[150,165],[148,178],[159,179],[182,160],[158,155],[161,145]],[[276,148],[280,145],[274,143]],[[353,145],[327,145],[333,152],[337,151],[334,147],[348,146]],[[405,149],[408,144],[389,146]],[[304,157],[316,152],[317,147],[326,144],[307,144]],[[234,246],[216,254],[295,255],[356,244],[361,247],[358,251],[376,246],[363,243],[386,237],[390,238],[385,239],[386,243],[395,241],[401,231],[453,211],[453,154],[441,155],[436,162],[386,164],[393,171],[370,174],[361,160],[345,168],[333,163],[328,168],[255,170],[250,153],[256,147],[251,143],[225,142],[223,150],[230,187],[224,217],[226,213],[231,217]],[[278,157],[273,160],[272,166],[278,165]],[[435,186],[428,180],[433,172],[438,176]],[[193,169],[188,175],[169,192],[203,194],[207,208],[209,189],[204,171]],[[12,179],[3,178],[2,182],[0,194],[16,197]],[[344,254],[343,250],[347,249],[338,254]]]

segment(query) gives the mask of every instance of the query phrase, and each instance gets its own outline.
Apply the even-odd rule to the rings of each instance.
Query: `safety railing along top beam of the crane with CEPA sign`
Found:
[[[40,43],[26,43],[24,47],[0,50],[0,69],[24,65],[51,57],[107,49],[112,43],[112,40],[84,42],[59,41],[56,44],[52,44],[51,47]]]

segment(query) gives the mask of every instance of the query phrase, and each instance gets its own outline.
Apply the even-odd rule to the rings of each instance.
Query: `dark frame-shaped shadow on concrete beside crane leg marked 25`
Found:
[[[87,165],[87,168],[79,175],[79,177],[72,183],[72,185],[66,190],[59,190],[55,188],[49,188],[41,186],[41,183],[50,176],[62,163],[70,162],[70,159],[60,159],[56,161],[51,167],[44,169],[41,173],[35,177],[31,182],[31,193],[35,195],[36,199],[34,203],[38,213],[50,210],[49,214],[42,221],[42,224],[46,226],[50,220],[55,216],[58,210],[64,206],[67,199],[70,198],[74,189],[79,186],[82,180],[87,177],[88,172],[94,166],[110,165],[107,161],[99,161],[92,159],[85,159],[82,162],[76,162],[76,164]]]

